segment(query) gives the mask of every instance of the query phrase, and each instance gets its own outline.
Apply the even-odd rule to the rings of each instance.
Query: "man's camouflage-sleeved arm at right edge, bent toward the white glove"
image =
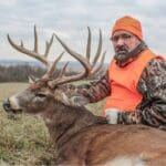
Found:
[[[132,113],[117,112],[117,123],[166,127],[166,61],[151,61],[137,87],[143,94],[142,103]]]

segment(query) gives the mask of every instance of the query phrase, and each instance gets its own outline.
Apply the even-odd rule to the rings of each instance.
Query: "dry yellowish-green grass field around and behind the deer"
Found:
[[[4,98],[25,89],[25,83],[0,84],[0,166],[51,165],[55,153],[48,129],[40,117],[25,114],[7,115],[2,108]],[[87,107],[100,114],[104,102]]]

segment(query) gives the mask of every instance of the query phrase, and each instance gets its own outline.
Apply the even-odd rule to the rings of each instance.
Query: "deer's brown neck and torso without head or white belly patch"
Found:
[[[143,125],[108,125],[81,107],[56,107],[45,124],[56,145],[58,165],[105,165],[135,157],[149,166],[166,164],[166,133]],[[44,114],[45,118],[46,114]],[[45,120],[48,120],[46,117]]]

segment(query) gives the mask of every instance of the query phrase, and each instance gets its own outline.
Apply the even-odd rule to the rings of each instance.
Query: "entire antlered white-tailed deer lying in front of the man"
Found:
[[[65,83],[85,79],[95,74],[102,66],[95,64],[102,50],[102,33],[93,63],[90,63],[91,31],[86,59],[72,51],[55,35],[63,48],[81,64],[84,71],[76,75],[65,76],[66,65],[56,79],[53,72],[62,54],[50,64],[46,55],[53,42],[52,35],[46,43],[44,55],[38,52],[38,37],[34,28],[34,50],[30,51],[15,44],[10,37],[10,44],[18,51],[33,56],[44,63],[46,73],[33,80],[23,92],[9,97],[3,107],[7,112],[40,114],[49,128],[52,141],[56,146],[55,165],[110,165],[110,166],[165,166],[166,165],[166,133],[144,125],[110,125],[106,120],[95,116],[83,106],[69,106],[63,102]],[[104,56],[105,53],[103,53]],[[72,91],[71,91],[72,92]]]

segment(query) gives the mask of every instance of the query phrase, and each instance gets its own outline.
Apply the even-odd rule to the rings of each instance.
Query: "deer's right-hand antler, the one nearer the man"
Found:
[[[91,30],[87,27],[87,31],[89,31],[89,37],[87,37],[87,45],[86,45],[86,58],[84,58],[83,55],[76,53],[75,51],[71,50],[56,34],[55,38],[58,39],[58,41],[62,44],[62,46],[66,50],[66,52],[69,52],[73,58],[75,58],[84,68],[84,71],[76,74],[76,75],[72,75],[72,76],[64,76],[63,74],[61,74],[61,76],[56,80],[53,80],[52,82],[50,82],[50,84],[52,84],[52,86],[56,85],[56,84],[62,84],[62,83],[68,83],[68,82],[73,82],[73,81],[79,81],[82,79],[85,79],[90,75],[94,75],[95,73],[97,73],[104,63],[104,58],[105,58],[105,53],[104,52],[102,54],[102,59],[100,61],[100,64],[96,66],[96,63],[98,61],[98,58],[101,55],[102,52],[102,32],[100,30],[100,40],[98,40],[98,46],[97,46],[97,51],[96,54],[93,59],[92,64],[90,63],[90,58],[91,58]]]

